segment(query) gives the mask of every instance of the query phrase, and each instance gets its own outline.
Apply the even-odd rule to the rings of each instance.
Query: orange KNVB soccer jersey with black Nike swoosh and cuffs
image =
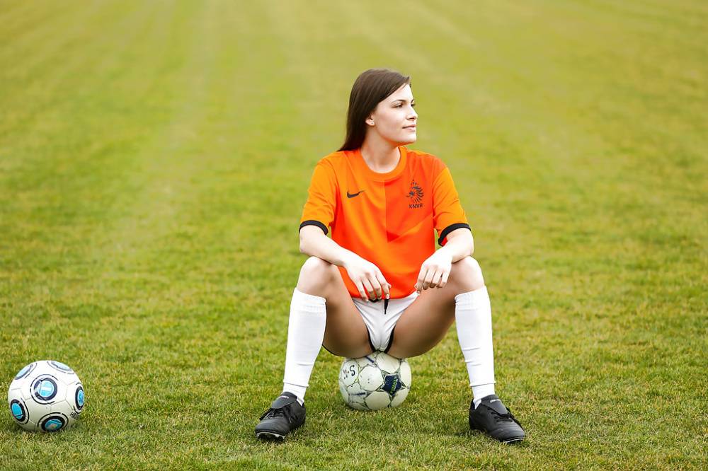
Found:
[[[394,170],[376,173],[360,149],[339,151],[314,168],[300,228],[319,226],[332,239],[375,264],[392,285],[391,297],[415,291],[421,264],[447,234],[468,228],[452,175],[439,158],[399,146]],[[349,293],[359,291],[346,269],[339,267]]]

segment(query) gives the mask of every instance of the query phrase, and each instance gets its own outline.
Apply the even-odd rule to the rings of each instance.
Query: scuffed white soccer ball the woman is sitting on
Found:
[[[396,407],[411,390],[411,366],[383,351],[362,358],[344,359],[339,391],[349,407],[378,410]]]

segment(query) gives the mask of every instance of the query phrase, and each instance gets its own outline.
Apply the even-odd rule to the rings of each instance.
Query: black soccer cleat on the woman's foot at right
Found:
[[[481,430],[502,443],[522,441],[526,433],[521,424],[496,395],[482,397],[477,408],[474,400],[469,405],[469,427]]]

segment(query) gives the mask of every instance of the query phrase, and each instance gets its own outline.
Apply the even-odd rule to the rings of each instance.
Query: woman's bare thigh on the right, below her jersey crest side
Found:
[[[455,294],[449,284],[424,290],[396,323],[389,355],[410,358],[435,347],[455,320]]]

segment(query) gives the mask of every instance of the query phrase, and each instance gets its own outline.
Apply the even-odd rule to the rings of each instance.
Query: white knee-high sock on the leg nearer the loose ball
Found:
[[[282,390],[295,394],[300,404],[304,402],[312,367],[322,347],[326,322],[325,299],[295,288],[290,301],[290,320],[287,322]]]

